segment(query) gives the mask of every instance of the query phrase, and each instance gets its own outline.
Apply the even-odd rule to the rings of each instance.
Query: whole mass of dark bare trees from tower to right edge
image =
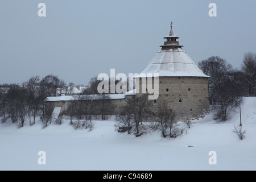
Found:
[[[233,69],[231,64],[219,56],[209,57],[198,65],[205,75],[210,76],[209,103],[216,112],[215,119],[228,120],[230,110],[240,104],[242,97],[256,96],[255,53],[245,53],[241,69]]]

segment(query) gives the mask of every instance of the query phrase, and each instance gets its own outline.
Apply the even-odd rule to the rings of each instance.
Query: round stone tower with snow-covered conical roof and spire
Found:
[[[141,73],[159,74],[159,97],[154,106],[166,101],[177,117],[202,117],[209,113],[208,78],[181,48],[172,30],[155,57]],[[135,78],[142,88],[142,78]],[[154,79],[153,79],[154,80]],[[138,87],[137,87],[138,88]]]

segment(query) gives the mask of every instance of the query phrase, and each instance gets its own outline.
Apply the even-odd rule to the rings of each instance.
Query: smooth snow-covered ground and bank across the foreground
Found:
[[[236,111],[227,122],[209,114],[175,139],[117,133],[114,118],[94,121],[92,131],[74,130],[68,120],[46,129],[39,119],[20,129],[6,123],[0,125],[0,170],[256,170],[256,97],[241,106],[243,140],[232,132],[240,123]],[[38,164],[39,151],[46,152],[45,165]],[[209,164],[209,151],[216,151],[217,164]]]

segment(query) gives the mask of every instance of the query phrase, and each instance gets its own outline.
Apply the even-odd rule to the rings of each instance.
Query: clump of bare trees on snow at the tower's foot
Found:
[[[177,127],[175,111],[170,110],[167,102],[158,102],[152,107],[153,102],[145,94],[132,96],[126,99],[127,105],[121,107],[116,115],[115,128],[118,132],[134,134],[136,137],[147,132],[159,130],[163,138],[176,138],[183,133]],[[191,118],[189,118],[190,127]]]

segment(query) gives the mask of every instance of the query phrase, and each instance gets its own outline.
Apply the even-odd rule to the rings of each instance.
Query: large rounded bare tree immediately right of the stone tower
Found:
[[[216,118],[229,119],[229,111],[237,106],[237,100],[243,92],[241,72],[232,69],[232,65],[218,56],[199,62],[199,68],[210,76],[208,82],[209,102],[216,111]]]

